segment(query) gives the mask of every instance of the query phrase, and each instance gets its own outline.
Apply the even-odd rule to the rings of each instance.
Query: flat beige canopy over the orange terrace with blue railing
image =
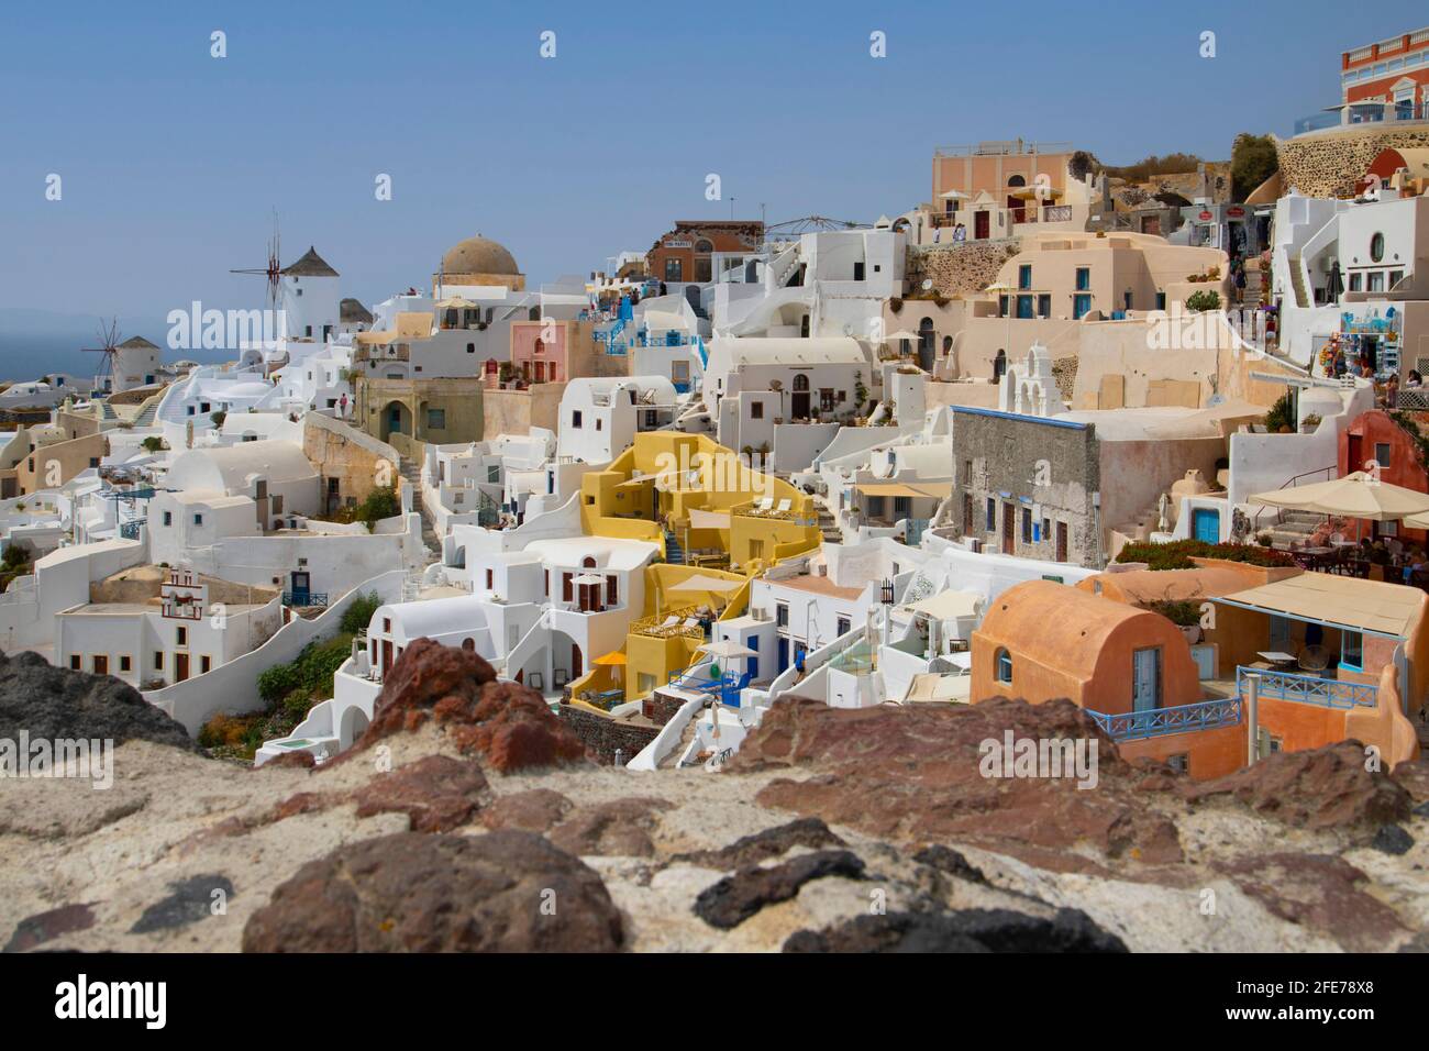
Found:
[[[1423,601],[1419,588],[1335,573],[1299,573],[1212,599],[1400,639]]]

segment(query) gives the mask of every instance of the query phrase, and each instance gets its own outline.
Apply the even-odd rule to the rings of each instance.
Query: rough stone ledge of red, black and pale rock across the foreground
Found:
[[[634,774],[426,641],[320,768],[209,759],[117,679],[0,658],[0,739],[21,729],[121,744],[107,791],[0,781],[11,952],[1429,945],[1429,764],[1355,744],[1193,782],[1102,736],[1079,789],[979,772],[1007,729],[1097,735],[1072,704],[792,698],[722,774]]]

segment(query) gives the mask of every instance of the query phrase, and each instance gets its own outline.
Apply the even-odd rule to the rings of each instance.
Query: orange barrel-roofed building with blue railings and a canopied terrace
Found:
[[[1386,769],[1419,754],[1429,695],[1418,588],[1212,559],[1003,592],[973,633],[973,702],[1069,698],[1125,758],[1193,778],[1355,739]],[[1183,631],[1152,602],[1193,602]],[[1252,692],[1255,704],[1252,704]]]

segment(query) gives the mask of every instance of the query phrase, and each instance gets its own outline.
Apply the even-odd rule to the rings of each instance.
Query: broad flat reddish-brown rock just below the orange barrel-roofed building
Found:
[[[1015,738],[1097,742],[1096,788],[1072,778],[985,778],[979,745]],[[1137,791],[1145,772],[1069,701],[836,709],[805,698],[777,701],[727,769],[792,766],[802,781],[770,782],[766,806],[852,825],[902,841],[959,839],[1059,869],[1103,859],[1182,859],[1175,822]]]

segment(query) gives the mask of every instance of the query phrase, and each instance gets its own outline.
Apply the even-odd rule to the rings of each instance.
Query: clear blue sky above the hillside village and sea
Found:
[[[0,309],[260,305],[260,280],[227,270],[262,265],[274,207],[284,263],[316,245],[370,302],[477,230],[540,282],[727,217],[730,194],[770,222],[896,214],[927,197],[939,143],[1225,159],[1238,132],[1338,102],[1340,50],[1418,27],[1366,6],[1353,21],[1318,0],[7,3]]]

